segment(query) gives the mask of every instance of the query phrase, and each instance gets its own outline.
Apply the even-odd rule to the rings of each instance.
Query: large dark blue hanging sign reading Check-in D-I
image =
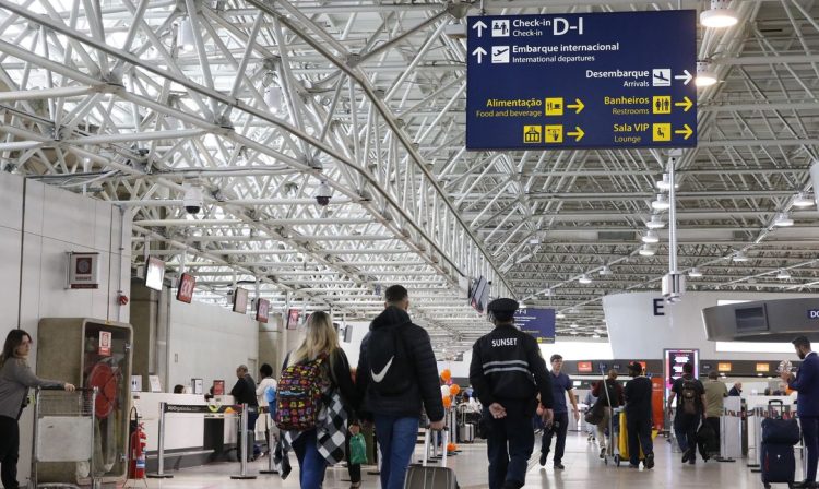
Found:
[[[697,145],[693,10],[467,26],[467,150]]]

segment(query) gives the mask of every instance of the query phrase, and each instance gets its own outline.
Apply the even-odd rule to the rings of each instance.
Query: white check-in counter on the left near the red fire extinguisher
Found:
[[[133,406],[143,422],[146,440],[147,469],[156,467],[159,440],[159,404],[207,406],[199,394],[168,394],[134,392]],[[233,396],[216,396],[212,406],[233,404]],[[228,450],[236,448],[238,415],[202,413],[165,414],[165,466],[169,468],[201,465],[224,460]]]

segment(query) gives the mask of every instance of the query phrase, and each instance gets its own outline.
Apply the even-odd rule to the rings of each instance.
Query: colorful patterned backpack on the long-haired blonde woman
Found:
[[[328,381],[322,369],[327,356],[295,363],[282,371],[276,392],[275,424],[282,430],[308,431],[316,428],[321,396]]]

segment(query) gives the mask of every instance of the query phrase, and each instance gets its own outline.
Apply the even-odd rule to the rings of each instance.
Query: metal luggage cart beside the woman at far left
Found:
[[[79,489],[79,486],[69,482],[38,484],[37,467],[40,462],[74,462],[78,464],[78,479],[87,477],[92,487],[99,486],[94,475],[93,456],[96,396],[96,387],[74,392],[36,390],[29,489]]]

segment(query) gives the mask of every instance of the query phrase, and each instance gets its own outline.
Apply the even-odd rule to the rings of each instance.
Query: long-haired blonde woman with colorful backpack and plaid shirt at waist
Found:
[[[276,425],[296,452],[301,489],[320,489],[328,465],[344,460],[347,420],[355,420],[357,408],[339,334],[330,315],[316,311],[304,342],[285,360],[276,395]]]

